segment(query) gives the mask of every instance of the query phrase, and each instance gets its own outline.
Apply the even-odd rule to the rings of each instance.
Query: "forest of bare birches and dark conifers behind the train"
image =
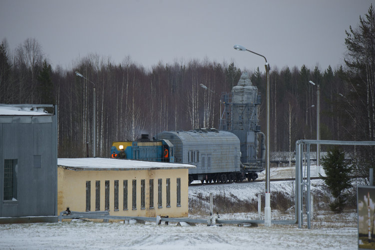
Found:
[[[321,88],[321,139],[375,140],[372,6],[359,27],[349,27],[345,44],[346,63],[335,68],[279,68],[271,62],[272,151],[293,151],[297,139],[317,137],[317,88],[309,80]],[[35,38],[15,49],[9,48],[6,38],[0,43],[0,103],[57,104],[58,157],[92,156],[93,115],[100,157],[110,155],[112,141],[134,140],[142,133],[152,137],[166,130],[218,128],[221,93],[230,92],[241,73],[235,62],[208,58],[159,62],[145,69],[130,56],[114,63],[98,54],[80,58],[72,68],[52,69]],[[265,131],[266,73],[259,67],[248,73],[262,96],[260,125]]]

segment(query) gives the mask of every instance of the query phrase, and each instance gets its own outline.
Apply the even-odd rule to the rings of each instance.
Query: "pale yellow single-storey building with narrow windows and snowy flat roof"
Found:
[[[115,216],[188,215],[190,164],[112,158],[59,158],[57,211]]]

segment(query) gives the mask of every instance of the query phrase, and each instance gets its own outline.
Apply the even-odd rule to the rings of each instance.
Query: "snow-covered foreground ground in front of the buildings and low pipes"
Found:
[[[102,222],[0,225],[0,249],[357,249],[357,228],[180,227]]]

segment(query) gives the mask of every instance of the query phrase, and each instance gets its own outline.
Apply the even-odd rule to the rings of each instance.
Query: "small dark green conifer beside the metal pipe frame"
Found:
[[[339,147],[334,147],[328,151],[326,157],[322,158],[322,167],[327,176],[321,175],[321,177],[335,198],[335,201],[330,203],[330,208],[332,211],[340,213],[344,210],[347,199],[344,190],[352,186],[349,175],[352,168],[345,162],[345,153],[341,152]]]

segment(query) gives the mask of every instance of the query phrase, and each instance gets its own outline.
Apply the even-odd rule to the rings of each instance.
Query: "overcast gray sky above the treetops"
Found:
[[[0,0],[0,39],[14,49],[35,38],[52,67],[88,53],[125,56],[150,69],[190,59],[264,71],[271,65],[324,70],[344,63],[345,30],[375,0]],[[375,5],[375,4],[373,4]]]

